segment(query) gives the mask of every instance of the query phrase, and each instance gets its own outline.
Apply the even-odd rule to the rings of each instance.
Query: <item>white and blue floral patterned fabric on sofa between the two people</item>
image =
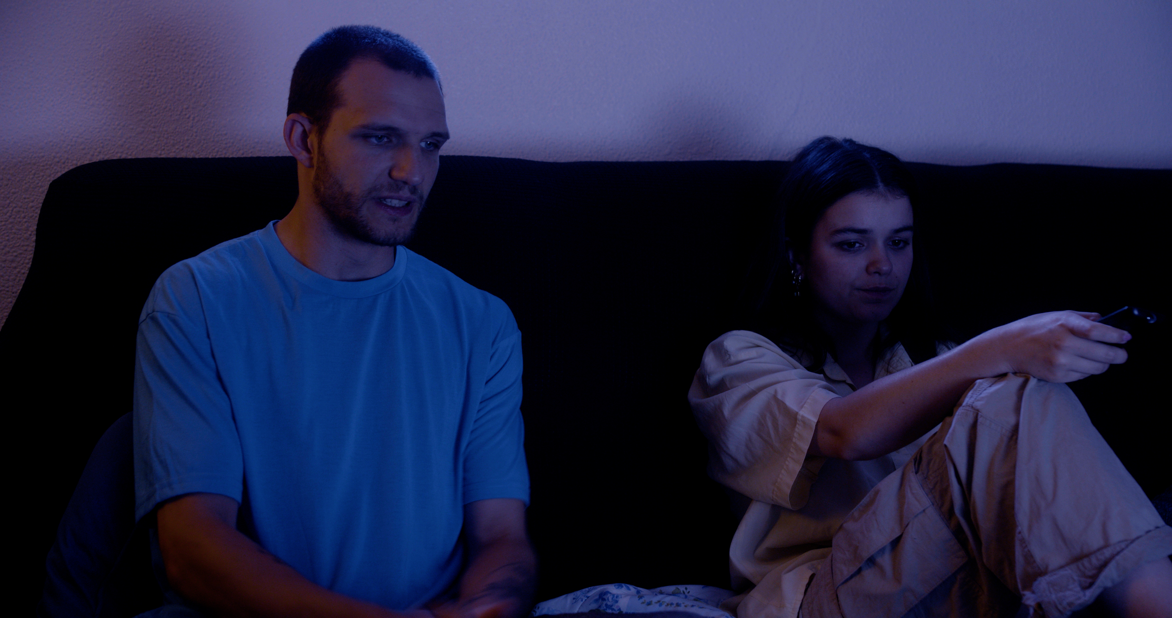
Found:
[[[681,585],[646,590],[629,584],[591,586],[538,603],[532,616],[554,613],[647,613],[683,611],[708,618],[732,618],[720,609],[734,595],[715,586]]]

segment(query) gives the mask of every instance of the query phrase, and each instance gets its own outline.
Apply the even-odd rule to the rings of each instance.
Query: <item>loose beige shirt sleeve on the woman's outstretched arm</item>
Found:
[[[752,500],[800,509],[824,457],[806,453],[833,388],[769,339],[732,331],[704,351],[688,401],[709,474]]]

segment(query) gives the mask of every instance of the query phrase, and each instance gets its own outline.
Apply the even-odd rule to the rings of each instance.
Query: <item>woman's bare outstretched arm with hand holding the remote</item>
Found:
[[[1072,382],[1127,360],[1131,335],[1098,324],[1097,313],[1040,313],[999,326],[823,406],[811,455],[871,460],[904,447],[952,413],[976,380],[1026,373]]]

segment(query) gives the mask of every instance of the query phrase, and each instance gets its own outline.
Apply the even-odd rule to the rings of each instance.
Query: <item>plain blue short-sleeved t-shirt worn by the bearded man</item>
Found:
[[[138,325],[136,516],[205,491],[309,580],[416,607],[459,573],[464,504],[529,501],[520,332],[397,247],[338,281],[272,223],[171,266]]]

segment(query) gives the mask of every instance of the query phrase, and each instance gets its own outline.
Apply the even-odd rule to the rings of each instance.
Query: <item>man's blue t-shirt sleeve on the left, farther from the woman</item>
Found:
[[[138,324],[136,518],[183,494],[205,491],[236,501],[243,494],[240,439],[216,371],[198,293],[184,274],[161,278]]]

